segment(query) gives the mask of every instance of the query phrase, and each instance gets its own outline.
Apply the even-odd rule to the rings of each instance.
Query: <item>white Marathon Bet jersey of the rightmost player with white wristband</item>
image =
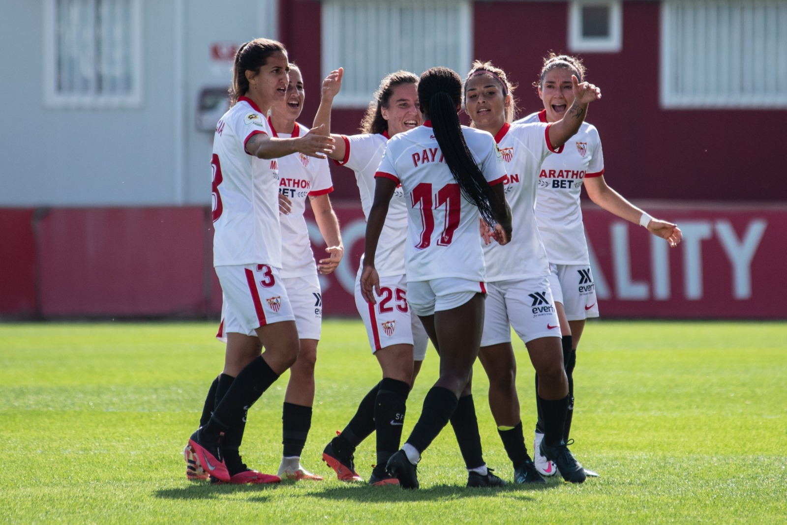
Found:
[[[532,113],[517,123],[546,122],[546,110]],[[582,123],[566,141],[560,155],[547,157],[538,174],[536,220],[549,262],[589,264],[579,194],[585,178],[604,174],[604,153],[593,124]]]

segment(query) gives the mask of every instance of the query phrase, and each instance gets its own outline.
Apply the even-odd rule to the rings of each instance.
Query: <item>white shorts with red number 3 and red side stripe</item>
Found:
[[[295,320],[279,270],[273,266],[216,266],[216,275],[223,298],[217,339],[226,341],[227,332],[257,336],[260,326]]]

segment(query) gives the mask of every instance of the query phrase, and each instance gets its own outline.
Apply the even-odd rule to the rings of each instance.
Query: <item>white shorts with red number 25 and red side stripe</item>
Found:
[[[377,304],[369,304],[360,295],[359,276],[355,281],[355,306],[364,320],[372,353],[394,344],[412,344],[413,359],[423,361],[429,338],[419,318],[411,315],[407,293],[404,275],[380,277]]]

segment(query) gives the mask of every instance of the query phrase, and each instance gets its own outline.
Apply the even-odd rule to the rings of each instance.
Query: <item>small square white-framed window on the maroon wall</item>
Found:
[[[568,48],[571,51],[596,53],[620,51],[623,48],[623,12],[620,2],[570,2]]]

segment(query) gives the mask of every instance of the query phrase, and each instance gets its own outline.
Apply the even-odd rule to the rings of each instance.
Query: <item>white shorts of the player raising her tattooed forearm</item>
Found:
[[[560,321],[547,277],[486,284],[481,346],[510,343],[511,327],[524,343],[560,337]]]

